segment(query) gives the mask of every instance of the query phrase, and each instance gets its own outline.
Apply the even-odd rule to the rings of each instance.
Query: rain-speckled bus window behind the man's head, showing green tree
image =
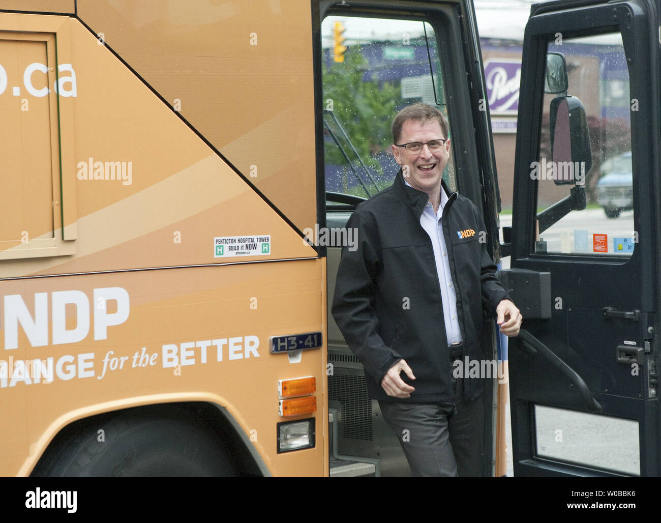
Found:
[[[333,194],[369,198],[393,183],[399,165],[390,126],[399,110],[424,102],[447,111],[428,22],[331,16],[323,20],[322,42],[325,177],[332,205],[338,202]],[[451,159],[444,179],[456,190]]]

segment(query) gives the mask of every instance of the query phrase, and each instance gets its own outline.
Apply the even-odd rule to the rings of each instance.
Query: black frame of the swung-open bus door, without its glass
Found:
[[[541,126],[541,93],[545,69],[546,42],[557,32],[563,38],[586,36],[595,32],[615,29],[622,34],[627,54],[630,77],[630,95],[637,99],[639,110],[631,112],[631,145],[633,151],[635,230],[639,243],[631,259],[585,257],[580,255],[545,255],[534,251],[534,212],[537,184],[531,180],[531,161],[536,161]],[[650,383],[650,362],[658,365],[659,282],[656,261],[661,259],[658,246],[659,216],[655,202],[659,190],[659,114],[658,103],[658,20],[656,4],[651,0],[631,0],[606,5],[605,2],[568,1],[553,2],[533,7],[524,38],[522,58],[522,85],[520,91],[516,164],[514,176],[514,216],[512,224],[512,268],[551,272],[551,299],[561,296],[567,304],[563,309],[551,307],[551,319],[525,319],[524,329],[542,344],[548,346],[563,360],[580,365],[580,349],[576,353],[570,338],[571,305],[584,310],[599,310],[606,306],[620,310],[633,308],[644,312],[637,322],[639,341],[650,342],[650,354],[641,365],[643,383]],[[626,268],[625,268],[626,267]],[[564,277],[563,274],[572,276]],[[581,281],[593,292],[576,296],[572,282]],[[627,294],[607,289],[607,282],[617,278]],[[601,280],[601,284],[600,284]],[[636,298],[638,297],[638,298]],[[567,299],[568,298],[568,299]],[[516,294],[515,294],[516,301]],[[625,326],[627,320],[617,320]],[[635,322],[629,321],[631,330]],[[582,344],[586,342],[583,341]],[[578,344],[580,345],[580,343]],[[555,371],[548,360],[538,353],[531,355],[529,344],[522,339],[512,342],[510,349],[510,397],[512,398],[512,439],[515,475],[621,475],[587,466],[541,458],[536,455],[533,405],[549,405],[587,412],[569,381]],[[607,347],[605,350],[610,351]],[[615,344],[612,348],[615,362]],[[608,352],[610,354],[610,352]],[[586,362],[582,362],[585,364]],[[613,363],[614,365],[616,363]],[[575,387],[574,387],[575,388]],[[639,421],[639,442],[642,476],[661,474],[659,452],[659,407],[656,397],[640,399],[590,389],[594,399],[603,408],[602,413]]]

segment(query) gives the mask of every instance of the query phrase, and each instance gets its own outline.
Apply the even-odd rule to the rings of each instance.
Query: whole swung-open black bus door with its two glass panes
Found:
[[[661,473],[658,7],[531,9],[503,274],[515,476]]]

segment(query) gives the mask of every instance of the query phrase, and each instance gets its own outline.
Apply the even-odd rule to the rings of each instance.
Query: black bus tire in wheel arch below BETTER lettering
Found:
[[[183,409],[137,408],[75,422],[32,476],[212,477],[239,475],[218,434]]]

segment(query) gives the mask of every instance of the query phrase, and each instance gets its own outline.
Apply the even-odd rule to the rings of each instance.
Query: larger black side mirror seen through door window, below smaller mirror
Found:
[[[585,108],[576,97],[551,100],[551,160],[556,185],[583,185],[592,169],[592,148]]]

